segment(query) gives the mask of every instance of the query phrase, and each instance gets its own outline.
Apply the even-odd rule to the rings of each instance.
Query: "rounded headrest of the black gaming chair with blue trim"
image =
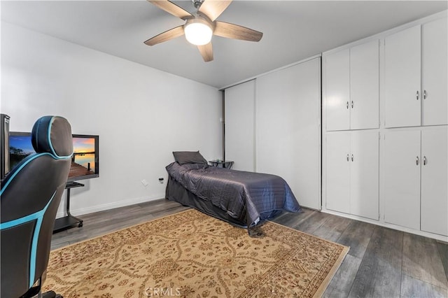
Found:
[[[70,123],[59,116],[43,116],[34,123],[31,143],[36,153],[48,152],[58,158],[73,153]]]

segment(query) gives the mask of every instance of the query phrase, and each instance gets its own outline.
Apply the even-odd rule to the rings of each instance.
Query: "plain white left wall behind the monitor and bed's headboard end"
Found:
[[[71,190],[75,215],[165,197],[158,178],[167,180],[172,151],[221,156],[221,110],[214,87],[1,23],[0,111],[10,130],[62,115],[73,134],[99,134],[100,176]]]

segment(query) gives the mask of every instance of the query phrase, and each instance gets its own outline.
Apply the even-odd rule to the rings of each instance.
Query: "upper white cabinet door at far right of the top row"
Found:
[[[446,17],[422,26],[423,125],[448,124],[447,27]]]

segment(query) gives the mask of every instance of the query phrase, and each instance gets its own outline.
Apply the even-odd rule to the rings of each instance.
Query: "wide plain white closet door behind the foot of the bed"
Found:
[[[283,177],[302,206],[321,208],[320,59],[256,81],[256,169]]]

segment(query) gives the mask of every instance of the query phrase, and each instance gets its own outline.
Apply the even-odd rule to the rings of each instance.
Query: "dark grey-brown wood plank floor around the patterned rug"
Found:
[[[52,249],[186,209],[160,199],[83,215],[83,227],[53,235]],[[350,246],[324,297],[448,297],[448,243],[309,209],[274,222]]]

